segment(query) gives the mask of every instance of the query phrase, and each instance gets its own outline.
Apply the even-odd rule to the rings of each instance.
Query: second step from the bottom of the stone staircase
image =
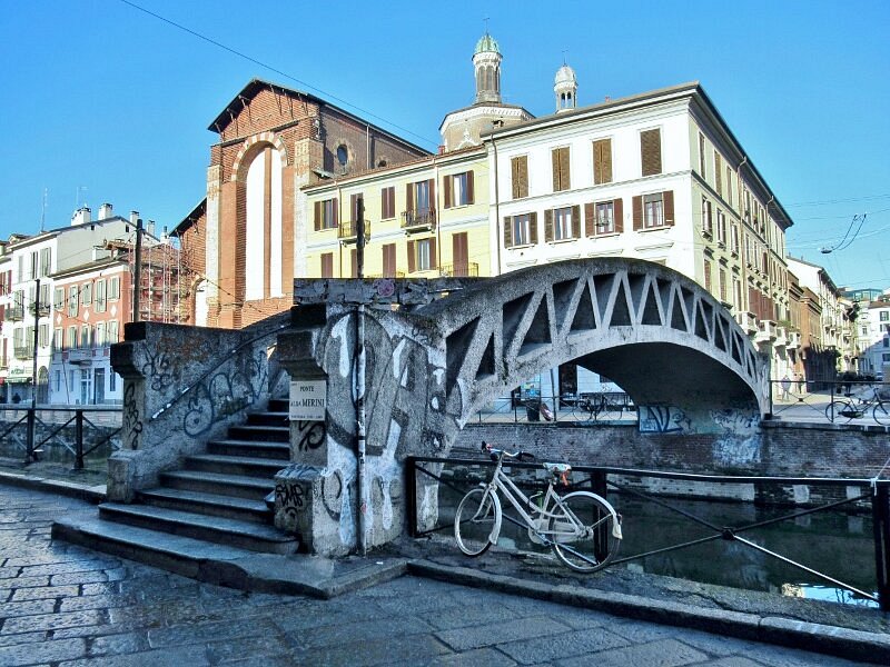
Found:
[[[299,546],[296,538],[285,535],[273,526],[150,505],[103,502],[99,506],[99,517],[137,528],[147,528],[263,554],[294,554]]]

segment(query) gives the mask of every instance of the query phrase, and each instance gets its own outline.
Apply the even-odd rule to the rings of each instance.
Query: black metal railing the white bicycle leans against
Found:
[[[540,470],[541,466],[535,464],[521,464],[521,462],[505,462],[505,466],[516,469],[525,470]],[[478,485],[482,480],[487,480],[491,476],[487,469],[494,466],[493,462],[485,459],[462,459],[462,458],[435,458],[435,457],[408,457],[405,462],[406,466],[406,511],[408,518],[408,534],[412,537],[423,537],[441,531],[451,530],[454,525],[454,517],[451,514],[451,508],[446,507],[447,504],[443,499],[447,499],[446,495],[454,492],[455,501],[468,491],[471,488]],[[435,468],[438,471],[433,471],[429,468]],[[465,474],[463,478],[454,475],[455,470],[476,469],[477,472]],[[884,611],[890,610],[890,479],[839,479],[839,478],[812,478],[812,477],[741,477],[741,476],[725,476],[725,475],[696,475],[688,472],[666,472],[655,470],[637,470],[631,468],[616,468],[607,466],[575,466],[573,471],[584,477],[582,482],[575,482],[571,489],[586,488],[594,492],[606,497],[607,491],[612,489],[621,498],[635,498],[645,502],[652,502],[660,508],[676,514],[683,519],[693,522],[694,525],[704,528],[709,535],[698,537],[695,539],[686,539],[676,544],[668,546],[657,546],[647,548],[643,551],[632,554],[629,556],[621,556],[612,561],[610,567],[630,561],[639,561],[657,555],[675,552],[682,549],[688,549],[708,542],[715,542],[718,540],[731,541],[741,545],[748,549],[752,549],[762,556],[781,561],[785,566],[790,566],[799,571],[807,573],[820,581],[827,583],[832,587],[851,593],[854,597],[877,603],[878,606]],[[418,475],[422,475],[432,484],[437,485],[437,496],[439,502],[437,504],[437,517],[432,527],[429,526],[428,517],[424,518],[426,528],[421,528],[421,517],[417,514],[417,499],[418,499]],[[514,475],[520,478],[527,472],[520,472]],[[652,492],[645,492],[636,488],[633,482],[639,482],[644,479],[661,479],[682,481],[685,486],[694,484],[711,485],[754,485],[761,487],[781,487],[788,488],[797,485],[808,487],[837,487],[837,492],[833,499],[825,501],[814,507],[807,507],[802,509],[794,509],[782,514],[778,517],[772,517],[767,520],[754,520],[742,522],[741,525],[726,526],[709,520],[699,516],[695,511],[690,511],[680,507],[679,502],[666,496],[656,496]],[[632,482],[633,481],[633,482]],[[521,480],[522,486],[522,480]],[[543,481],[536,481],[534,477],[528,477],[525,480],[526,485],[543,485]],[[858,489],[856,495],[851,495],[849,489]],[[446,494],[447,492],[447,494]],[[703,494],[704,495],[704,491]],[[706,499],[706,498],[705,498]],[[852,507],[857,506],[857,507]],[[798,521],[810,515],[817,512],[828,512],[838,508],[852,508],[852,509],[870,509],[873,520],[873,542],[874,542],[874,563],[876,563],[876,585],[873,591],[863,590],[861,586],[853,586],[844,583],[837,577],[822,573],[814,567],[810,567],[790,558],[785,555],[778,552],[778,550],[769,549],[753,539],[749,539],[745,535],[751,531],[768,526],[773,526],[783,521]],[[507,516],[508,507],[504,511],[504,520],[520,525],[520,521],[513,517]],[[633,517],[625,515],[625,537],[632,530]],[[524,526],[524,524],[523,524]],[[646,539],[646,536],[641,536],[641,539]]]

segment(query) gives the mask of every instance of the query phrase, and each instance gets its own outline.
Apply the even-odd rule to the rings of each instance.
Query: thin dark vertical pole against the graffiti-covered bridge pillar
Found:
[[[359,197],[356,202],[356,273],[358,280],[365,277],[365,200]],[[356,458],[357,458],[357,501],[358,501],[358,540],[357,546],[363,555],[367,554],[367,479],[365,469],[365,305],[359,302],[355,317],[355,422],[356,422]]]

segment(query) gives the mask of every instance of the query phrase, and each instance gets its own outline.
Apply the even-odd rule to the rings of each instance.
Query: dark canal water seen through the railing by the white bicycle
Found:
[[[471,485],[472,486],[472,485]],[[468,488],[468,487],[467,487]],[[439,522],[453,521],[453,509],[462,494],[444,490]],[[715,535],[715,530],[650,500],[611,494],[609,500],[622,515],[624,539],[619,557],[662,549]],[[751,502],[659,498],[671,507],[700,517],[716,527],[740,527],[793,514],[793,508],[755,507]],[[505,514],[515,516],[502,499]],[[451,515],[451,516],[447,516]],[[503,522],[497,548],[537,550],[521,530]],[[833,579],[877,595],[874,540],[870,514],[820,511],[771,526],[739,531],[741,537],[784,558]],[[675,551],[634,559],[623,567],[746,590],[876,607],[877,604],[841,587],[763,554],[738,540],[722,538]]]

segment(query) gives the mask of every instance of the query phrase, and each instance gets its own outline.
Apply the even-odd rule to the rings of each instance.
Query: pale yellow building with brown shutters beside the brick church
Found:
[[[306,276],[354,278],[364,205],[365,277],[491,276],[485,147],[303,188]]]

